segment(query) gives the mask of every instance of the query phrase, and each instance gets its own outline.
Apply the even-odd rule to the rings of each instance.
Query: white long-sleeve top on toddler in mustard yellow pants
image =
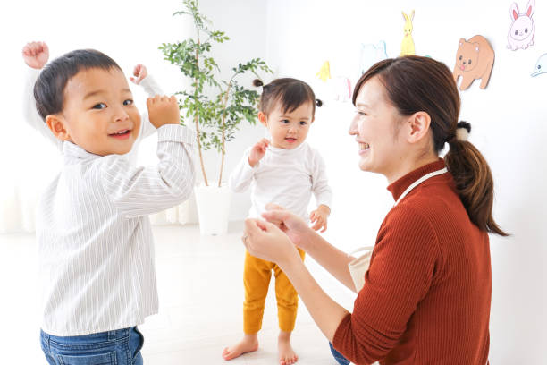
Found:
[[[332,208],[332,190],[328,184],[324,160],[316,149],[303,142],[296,149],[268,147],[265,156],[251,167],[248,149],[230,175],[232,191],[251,187],[249,217],[261,217],[267,203],[275,203],[308,219],[307,206],[312,192],[317,206]]]

